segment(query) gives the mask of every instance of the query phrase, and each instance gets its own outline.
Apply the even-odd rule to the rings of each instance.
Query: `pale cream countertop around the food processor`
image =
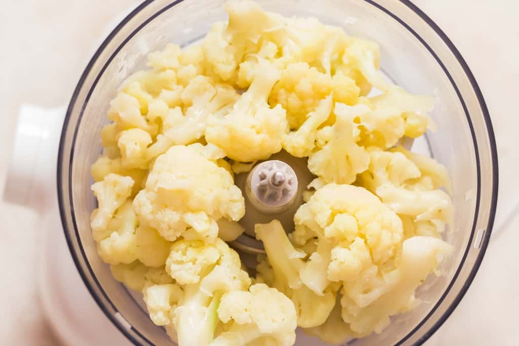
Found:
[[[496,225],[503,225],[519,192],[515,174],[519,128],[519,24],[515,0],[416,0],[453,40],[469,63],[487,101],[499,152],[500,191]],[[4,181],[16,115],[22,103],[65,104],[107,24],[137,1],[25,0],[0,12],[0,182]],[[3,183],[2,183],[3,184]],[[33,223],[36,216],[0,201],[0,344],[58,345],[40,311],[35,286]],[[519,218],[491,239],[467,295],[435,334],[438,344],[513,345],[519,339]]]

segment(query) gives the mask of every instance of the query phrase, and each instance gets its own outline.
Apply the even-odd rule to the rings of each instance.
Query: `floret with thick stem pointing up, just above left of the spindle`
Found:
[[[225,116],[209,117],[206,141],[225,150],[231,159],[251,162],[266,159],[281,150],[288,124],[281,106],[270,108],[267,98],[279,79],[277,68],[266,61],[260,64],[250,88]]]

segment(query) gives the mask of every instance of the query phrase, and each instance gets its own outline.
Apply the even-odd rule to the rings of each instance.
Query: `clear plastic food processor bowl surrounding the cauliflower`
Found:
[[[108,102],[120,83],[143,68],[149,51],[174,42],[187,45],[224,20],[224,1],[147,1],[108,36],[94,54],[74,92],[63,127],[58,161],[58,195],[63,228],[85,284],[108,318],[136,345],[174,344],[155,326],[97,254],[89,216],[94,207],[89,167],[99,156],[99,132]],[[497,201],[497,154],[488,110],[466,62],[430,18],[408,1],[259,1],[286,16],[313,16],[347,33],[377,41],[381,68],[410,92],[435,96],[432,118],[439,131],[427,133],[429,150],[446,165],[455,205],[447,240],[454,254],[445,276],[420,287],[424,301],[394,317],[379,335],[355,344],[419,344],[456,308],[481,264]],[[122,318],[121,318],[122,317]],[[125,322],[126,320],[126,322]],[[196,332],[196,331],[195,331]],[[301,339],[298,339],[301,343]],[[305,344],[314,344],[312,342]]]

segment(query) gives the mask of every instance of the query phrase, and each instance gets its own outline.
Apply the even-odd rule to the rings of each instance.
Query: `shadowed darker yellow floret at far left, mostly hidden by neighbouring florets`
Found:
[[[111,173],[128,176],[133,179],[134,184],[131,196],[135,196],[137,192],[144,188],[147,174],[146,171],[139,169],[127,170],[122,168],[121,158],[110,159],[106,156],[101,156],[90,168],[90,174],[94,178],[95,182],[103,181],[104,177]]]

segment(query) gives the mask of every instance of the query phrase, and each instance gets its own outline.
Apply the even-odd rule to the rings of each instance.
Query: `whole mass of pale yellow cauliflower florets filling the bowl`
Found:
[[[380,333],[450,251],[446,169],[397,146],[434,127],[432,99],[387,80],[374,42],[224,7],[200,44],[149,53],[110,102],[91,167],[99,256],[180,346]],[[251,280],[226,243],[244,232],[234,178],[281,150],[315,179],[290,234],[255,225],[266,256]]]

